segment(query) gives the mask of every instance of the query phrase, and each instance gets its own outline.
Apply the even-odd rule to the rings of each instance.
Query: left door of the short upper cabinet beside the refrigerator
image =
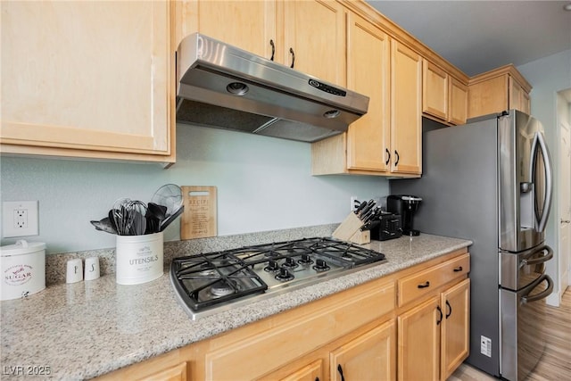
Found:
[[[432,62],[422,63],[422,112],[448,120],[448,73]]]

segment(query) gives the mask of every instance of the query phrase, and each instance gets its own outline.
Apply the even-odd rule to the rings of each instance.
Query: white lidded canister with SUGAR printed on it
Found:
[[[2,296],[0,300],[18,299],[46,288],[46,244],[27,242],[0,247]]]

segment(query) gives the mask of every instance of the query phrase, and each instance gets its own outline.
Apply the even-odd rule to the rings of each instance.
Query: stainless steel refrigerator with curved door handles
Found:
[[[496,377],[524,379],[545,347],[545,298],[553,287],[545,273],[553,256],[545,245],[552,170],[542,125],[514,110],[457,127],[425,122],[422,178],[393,179],[391,193],[422,197],[414,216],[420,234],[474,242],[467,361]]]

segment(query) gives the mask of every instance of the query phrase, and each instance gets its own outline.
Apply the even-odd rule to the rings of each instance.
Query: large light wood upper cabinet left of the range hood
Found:
[[[174,162],[169,1],[0,6],[2,153]]]

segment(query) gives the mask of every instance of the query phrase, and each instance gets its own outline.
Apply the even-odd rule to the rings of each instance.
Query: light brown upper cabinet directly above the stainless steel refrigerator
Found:
[[[468,118],[509,109],[529,113],[531,89],[511,64],[472,77],[468,90]]]

